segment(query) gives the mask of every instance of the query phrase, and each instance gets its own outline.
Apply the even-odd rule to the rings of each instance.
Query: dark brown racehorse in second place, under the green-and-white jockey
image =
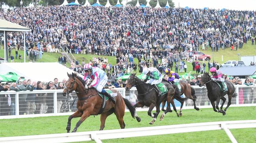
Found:
[[[163,96],[157,97],[158,93],[153,88],[152,85],[145,83],[144,81],[140,80],[135,74],[131,74],[129,78],[127,79],[127,84],[125,86],[125,90],[129,91],[133,85],[135,85],[137,91],[138,91],[138,103],[134,105],[134,107],[143,107],[147,106],[148,109],[148,116],[151,116],[153,120],[149,122],[149,124],[153,124],[156,121],[156,118],[160,112],[160,104],[163,100],[167,101],[167,108],[164,111],[164,114],[167,112],[172,112],[170,109],[170,103],[174,104],[173,98],[179,98],[181,101],[185,101],[186,98],[181,98],[179,96],[179,89],[177,86],[173,87],[170,85],[170,83],[162,82],[166,87],[168,92],[164,94]],[[153,113],[153,116],[151,114],[151,111],[153,108],[156,107],[156,112]],[[177,112],[177,111],[176,111]]]

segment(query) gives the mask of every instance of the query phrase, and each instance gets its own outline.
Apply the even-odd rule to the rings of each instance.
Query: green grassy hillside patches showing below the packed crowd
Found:
[[[243,45],[242,49],[237,49],[237,51],[231,51],[230,48],[228,49],[220,49],[218,52],[214,52],[214,61],[215,62],[219,62],[224,63],[228,60],[240,60],[240,56],[251,56],[251,55],[256,55],[256,45],[251,45],[251,41],[248,41],[247,44]],[[235,47],[234,47],[235,49]],[[202,51],[202,46],[199,47],[199,51]],[[205,54],[209,54],[211,56],[211,60],[213,60],[213,54],[211,51],[211,47],[209,47],[207,50],[202,51]],[[19,54],[21,53],[22,57],[23,57],[23,53],[24,51],[19,51]],[[12,50],[12,54],[13,56],[15,56],[15,51]],[[238,56],[237,54],[240,54],[240,56]],[[43,59],[42,60],[38,60],[36,62],[58,62],[58,57],[61,56],[60,53],[55,53],[55,52],[44,52],[43,54]],[[71,54],[70,54],[71,56]],[[76,58],[76,60],[79,60],[79,63],[82,62],[82,60],[84,60],[86,63],[89,62],[90,60],[92,60],[93,56],[97,57],[105,57],[105,56],[98,56],[98,55],[92,55],[92,54],[73,54],[73,56]],[[73,56],[71,56],[71,58],[73,58]],[[223,61],[222,61],[222,56],[223,56]],[[4,57],[4,50],[1,47],[0,50],[0,57]],[[108,63],[111,63],[112,65],[116,64],[116,57],[115,56],[106,56],[108,58]],[[9,60],[10,62],[10,60]],[[19,59],[14,59],[14,62],[24,62],[24,60],[19,60]],[[29,62],[28,60],[26,60],[26,62]],[[159,60],[160,62],[160,60]],[[200,61],[202,63],[202,61]],[[138,59],[135,58],[135,63],[137,63],[138,65]],[[208,71],[208,62],[206,61],[206,72]],[[67,63],[67,66],[69,67],[69,64]],[[187,63],[187,72],[191,71],[191,74],[195,74],[195,71],[192,71],[192,64],[191,63]],[[137,68],[138,69],[138,68]],[[174,69],[173,69],[174,70]],[[179,73],[179,75],[182,75],[184,73]],[[138,70],[137,70],[137,74]]]

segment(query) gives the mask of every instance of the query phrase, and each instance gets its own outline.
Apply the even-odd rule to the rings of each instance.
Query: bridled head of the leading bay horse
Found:
[[[72,74],[67,73],[67,76],[69,77],[69,79],[66,81],[65,85],[64,85],[64,90],[62,92],[63,96],[67,96],[69,95],[72,91],[75,91],[77,89],[77,81],[76,81],[76,77],[75,74],[72,72]]]

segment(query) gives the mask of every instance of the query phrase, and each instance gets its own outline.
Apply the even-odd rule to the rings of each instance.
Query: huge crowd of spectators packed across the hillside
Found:
[[[254,45],[255,15],[255,11],[228,9],[141,7],[45,6],[0,10],[1,18],[32,29],[31,32],[25,33],[25,48],[29,60],[36,61],[42,58],[43,52],[95,54],[90,63],[107,72],[110,88],[125,84],[120,83],[120,80],[116,81],[124,73],[131,73],[137,69],[141,73],[145,66],[157,67],[160,72],[166,67],[176,72],[186,72],[185,60],[187,60],[192,63],[193,70],[202,74],[206,70],[206,65],[201,65],[196,61],[196,57],[187,55],[188,52],[184,51],[199,51],[207,48],[212,48],[215,52],[227,48],[237,50],[243,48],[243,44],[248,41]],[[212,28],[219,31],[213,32]],[[23,35],[13,32],[7,34],[11,57],[12,54],[14,55],[12,51],[24,48]],[[0,45],[3,46],[4,39],[1,40]],[[15,52],[16,58],[17,54]],[[116,63],[109,63],[104,56],[116,56]],[[138,65],[134,62],[134,58],[138,58]],[[65,65],[65,57],[59,57],[58,62]],[[83,74],[82,67],[85,61],[80,62],[71,62],[70,68]],[[218,67],[219,63],[209,61],[209,66]],[[199,77],[196,76],[188,82],[196,83],[198,80]],[[229,80],[235,80],[234,84],[240,84],[237,78]],[[22,84],[24,86],[24,81],[10,83],[9,88],[5,87],[5,90],[10,90],[10,87],[15,85],[17,88]],[[42,82],[30,81],[29,85],[33,86],[32,90],[37,87],[51,89],[53,86],[50,84],[53,82],[54,85],[58,83],[58,81],[55,83],[55,80],[49,81],[48,86],[44,87]],[[63,83],[64,81],[54,87],[61,89]],[[11,105],[8,101],[7,97],[7,104]],[[59,104],[61,105],[60,102]],[[27,108],[30,107],[32,108],[32,105],[27,103]],[[58,107],[58,110],[60,109]],[[24,112],[34,113],[30,110]]]

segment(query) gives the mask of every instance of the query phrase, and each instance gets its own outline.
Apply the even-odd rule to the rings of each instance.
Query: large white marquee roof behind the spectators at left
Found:
[[[32,81],[49,82],[54,78],[58,78],[59,81],[67,79],[67,72],[74,71],[60,63],[1,63],[0,74],[3,75],[7,72],[15,72]]]

